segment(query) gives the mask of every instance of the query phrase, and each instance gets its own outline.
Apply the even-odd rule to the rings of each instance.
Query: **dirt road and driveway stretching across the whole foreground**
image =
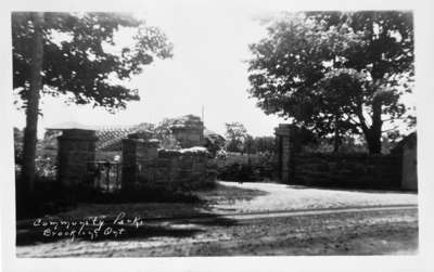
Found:
[[[65,215],[124,210],[152,217],[117,238],[44,241],[36,233],[39,238],[17,246],[17,257],[382,255],[418,248],[413,193],[220,182],[202,196],[208,205],[80,206]]]

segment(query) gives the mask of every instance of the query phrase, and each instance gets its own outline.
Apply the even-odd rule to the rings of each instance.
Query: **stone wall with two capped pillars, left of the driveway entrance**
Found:
[[[203,132],[202,132],[203,135]],[[159,141],[129,134],[122,144],[122,187],[155,183],[170,187],[201,187],[207,181],[205,147],[158,150]],[[59,180],[66,186],[85,184],[93,179],[94,163],[113,160],[118,153],[95,156],[95,131],[63,130],[59,137]]]

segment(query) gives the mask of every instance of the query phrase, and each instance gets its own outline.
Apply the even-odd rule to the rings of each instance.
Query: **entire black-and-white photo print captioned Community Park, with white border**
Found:
[[[418,258],[418,12],[100,3],[2,21],[16,261]]]

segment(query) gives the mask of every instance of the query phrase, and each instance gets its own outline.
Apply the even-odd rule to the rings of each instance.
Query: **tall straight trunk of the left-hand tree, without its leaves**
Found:
[[[37,144],[37,127],[39,113],[39,95],[42,89],[43,13],[34,13],[35,27],[31,44],[30,86],[26,95],[26,128],[24,130],[22,190],[33,192],[35,189],[35,158]]]

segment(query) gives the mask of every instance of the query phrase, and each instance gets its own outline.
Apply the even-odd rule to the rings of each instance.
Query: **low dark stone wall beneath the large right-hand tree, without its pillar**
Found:
[[[345,187],[399,187],[401,157],[369,154],[293,154],[295,184]]]

